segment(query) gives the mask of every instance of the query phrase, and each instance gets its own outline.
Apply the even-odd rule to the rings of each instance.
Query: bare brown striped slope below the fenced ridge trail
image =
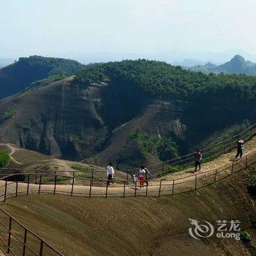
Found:
[[[214,237],[197,241],[188,229],[189,218],[212,223],[240,219],[241,228],[255,234],[248,173],[173,197],[40,195],[12,198],[4,208],[64,255],[246,255],[250,251],[240,241]]]

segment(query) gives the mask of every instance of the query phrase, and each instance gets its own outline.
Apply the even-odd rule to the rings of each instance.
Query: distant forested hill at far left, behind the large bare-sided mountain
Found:
[[[0,69],[0,99],[16,94],[37,80],[58,80],[75,75],[83,67],[69,59],[30,56]]]

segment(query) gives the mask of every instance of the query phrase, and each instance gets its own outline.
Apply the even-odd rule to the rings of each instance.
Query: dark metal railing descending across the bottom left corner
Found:
[[[47,241],[0,208],[0,249],[13,256],[63,256]]]

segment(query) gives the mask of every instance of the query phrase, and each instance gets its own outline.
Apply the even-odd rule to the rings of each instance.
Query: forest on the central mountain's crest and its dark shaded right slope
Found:
[[[75,81],[87,86],[108,83],[115,89],[114,94],[119,90],[124,95],[132,95],[127,115],[144,99],[173,102],[184,112],[181,121],[188,127],[187,139],[191,145],[195,145],[195,140],[206,138],[206,133],[241,124],[244,119],[255,121],[254,76],[207,75],[161,61],[140,59],[86,66]],[[127,102],[127,96],[119,99]]]

